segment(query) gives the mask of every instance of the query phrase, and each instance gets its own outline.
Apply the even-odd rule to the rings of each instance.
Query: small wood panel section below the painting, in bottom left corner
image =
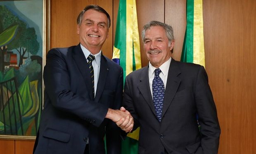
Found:
[[[14,140],[0,140],[1,154],[14,154]]]

